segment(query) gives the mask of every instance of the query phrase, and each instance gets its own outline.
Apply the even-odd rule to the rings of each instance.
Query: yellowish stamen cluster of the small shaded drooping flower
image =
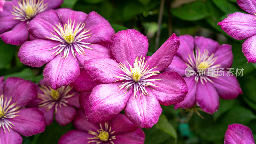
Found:
[[[48,86],[41,85],[39,89],[44,93],[38,93],[37,95],[39,99],[42,99],[42,101],[38,103],[38,107],[45,107],[47,111],[54,107],[55,113],[57,113],[58,106],[68,106],[68,101],[66,99],[71,98],[74,95],[74,93],[68,94],[68,92],[72,90],[72,87],[70,86],[64,86],[57,90],[53,90]]]

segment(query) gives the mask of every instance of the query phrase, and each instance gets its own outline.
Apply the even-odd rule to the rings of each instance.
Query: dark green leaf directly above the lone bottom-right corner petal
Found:
[[[222,118],[222,123],[225,124],[248,124],[251,120],[256,119],[253,112],[241,106],[232,107]]]

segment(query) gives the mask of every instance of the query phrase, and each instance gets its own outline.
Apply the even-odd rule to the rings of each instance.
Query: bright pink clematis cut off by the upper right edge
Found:
[[[242,44],[242,52],[248,62],[256,63],[256,0],[237,0],[237,4],[246,12],[235,12],[218,23],[221,29],[235,39],[246,39]]]

